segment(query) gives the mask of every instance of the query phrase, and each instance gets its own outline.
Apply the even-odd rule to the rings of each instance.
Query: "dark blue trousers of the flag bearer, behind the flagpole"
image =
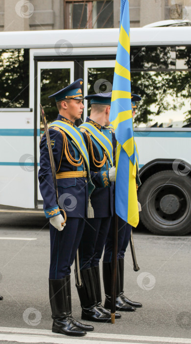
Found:
[[[112,218],[114,221],[114,218]],[[118,218],[118,256],[119,258],[124,258],[126,248],[129,243],[129,238],[131,235],[132,226],[123,221],[120,217]],[[113,237],[112,237],[112,225],[110,226],[109,233],[105,242],[105,250],[103,261],[111,262],[112,261],[112,248],[113,248]]]

